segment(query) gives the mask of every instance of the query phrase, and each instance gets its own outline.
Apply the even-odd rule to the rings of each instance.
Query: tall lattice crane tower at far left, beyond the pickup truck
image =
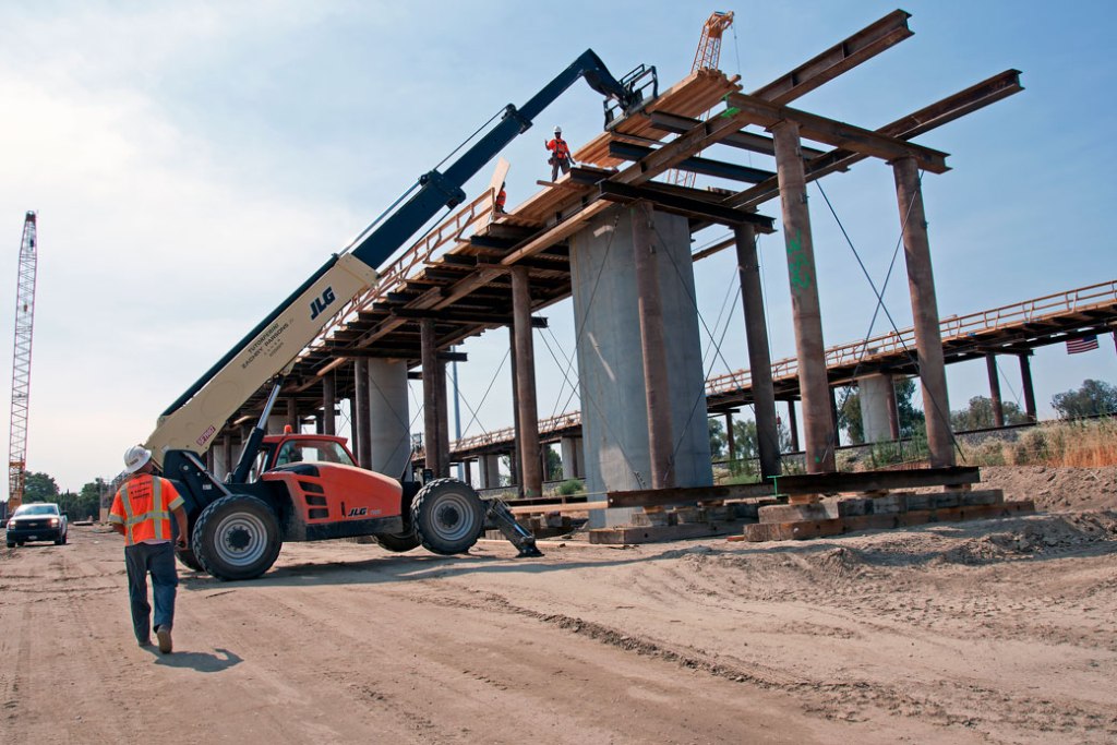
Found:
[[[16,345],[11,363],[11,431],[8,449],[8,514],[23,503],[27,477],[27,403],[31,392],[31,332],[35,328],[37,227],[35,212],[23,220],[16,289]]]

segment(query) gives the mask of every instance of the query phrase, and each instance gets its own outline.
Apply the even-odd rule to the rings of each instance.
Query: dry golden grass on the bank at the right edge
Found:
[[[1015,442],[985,440],[965,449],[975,466],[1056,466],[1101,468],[1117,465],[1117,421],[1050,422],[1030,429]]]

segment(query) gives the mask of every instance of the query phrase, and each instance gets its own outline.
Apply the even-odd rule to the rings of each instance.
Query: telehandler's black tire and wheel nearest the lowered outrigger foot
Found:
[[[485,528],[485,506],[468,484],[440,478],[416,495],[411,524],[427,551],[447,556],[462,554],[477,543]]]

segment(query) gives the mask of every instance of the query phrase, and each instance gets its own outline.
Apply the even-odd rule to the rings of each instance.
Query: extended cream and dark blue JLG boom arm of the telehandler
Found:
[[[168,450],[204,452],[225,422],[260,385],[288,367],[336,314],[338,299],[355,297],[376,281],[376,267],[443,207],[465,200],[462,185],[580,78],[626,114],[645,102],[623,85],[592,49],[583,52],[521,108],[508,105],[500,122],[450,164],[419,179],[418,192],[346,252],[333,256],[160,417],[147,438],[156,462]]]

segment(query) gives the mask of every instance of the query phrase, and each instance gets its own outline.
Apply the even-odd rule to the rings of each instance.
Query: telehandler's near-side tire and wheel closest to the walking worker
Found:
[[[244,494],[221,497],[202,510],[191,548],[202,569],[219,580],[252,580],[267,572],[283,538],[279,520],[261,499]]]

